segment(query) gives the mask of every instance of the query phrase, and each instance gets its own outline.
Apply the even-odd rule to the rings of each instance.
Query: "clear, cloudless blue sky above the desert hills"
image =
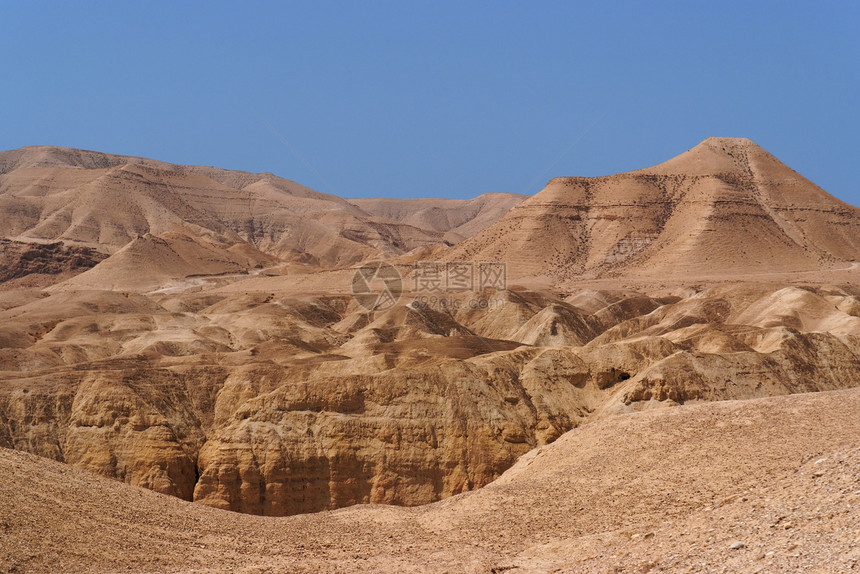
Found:
[[[745,136],[858,205],[858,30],[848,1],[3,1],[0,149],[470,197]]]

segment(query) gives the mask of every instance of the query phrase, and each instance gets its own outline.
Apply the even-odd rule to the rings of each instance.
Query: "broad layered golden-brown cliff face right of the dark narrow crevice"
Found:
[[[570,428],[580,408],[567,395],[586,373],[545,381],[546,360],[532,364],[535,354],[323,378],[259,394],[225,416],[202,449],[195,500],[280,515],[416,504],[483,486]],[[225,385],[218,401],[232,400],[231,391]]]

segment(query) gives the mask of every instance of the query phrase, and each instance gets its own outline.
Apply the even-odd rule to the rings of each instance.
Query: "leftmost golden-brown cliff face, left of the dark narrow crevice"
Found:
[[[201,397],[184,379],[145,362],[109,361],[23,377],[14,390],[7,382],[0,441],[191,500],[205,425],[194,412]]]

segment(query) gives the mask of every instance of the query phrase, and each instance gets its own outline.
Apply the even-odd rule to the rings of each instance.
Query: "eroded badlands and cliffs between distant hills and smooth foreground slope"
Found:
[[[246,513],[413,505],[588,420],[860,372],[846,289],[495,296],[495,319],[401,305],[363,320],[337,297],[37,297],[2,312],[19,344],[0,357],[0,446]]]

